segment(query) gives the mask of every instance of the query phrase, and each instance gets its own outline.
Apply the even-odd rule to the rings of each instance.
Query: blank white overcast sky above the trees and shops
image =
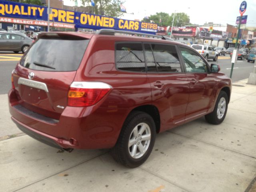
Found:
[[[256,0],[246,0],[248,15],[246,26],[256,26]],[[235,25],[236,17],[240,16],[239,7],[242,0],[126,0],[124,6],[127,13],[134,13],[131,19],[142,19],[156,12],[172,14],[184,12],[190,16],[190,23]],[[126,14],[129,15],[129,14]],[[171,24],[170,24],[171,25]]]

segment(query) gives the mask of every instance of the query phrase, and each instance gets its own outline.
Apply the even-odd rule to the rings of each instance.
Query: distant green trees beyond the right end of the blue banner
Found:
[[[174,13],[169,15],[168,13],[160,12],[154,15],[150,15],[148,19],[144,19],[143,21],[150,22],[152,20],[154,23],[158,24],[158,26],[172,26],[173,16]],[[173,26],[180,27],[184,25],[190,25],[189,16],[186,13],[175,13]]]

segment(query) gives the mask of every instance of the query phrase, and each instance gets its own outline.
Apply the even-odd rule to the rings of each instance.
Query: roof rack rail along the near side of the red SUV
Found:
[[[115,35],[115,33],[148,36],[148,37],[153,37],[153,38],[160,38],[160,39],[163,39],[163,40],[174,41],[172,38],[169,38],[169,37],[166,37],[166,36],[153,35],[153,34],[147,34],[147,33],[139,33],[139,32],[133,32],[133,31],[125,31],[125,30],[100,29],[96,32],[96,34],[99,34],[99,35]]]

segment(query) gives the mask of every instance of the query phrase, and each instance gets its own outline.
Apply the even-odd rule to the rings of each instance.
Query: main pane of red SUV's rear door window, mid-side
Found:
[[[151,44],[158,72],[181,72],[175,46]]]

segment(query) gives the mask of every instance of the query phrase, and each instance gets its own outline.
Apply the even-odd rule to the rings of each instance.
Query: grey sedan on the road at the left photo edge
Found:
[[[22,53],[28,50],[33,40],[28,38],[25,34],[17,33],[0,33],[0,51],[13,51]]]

